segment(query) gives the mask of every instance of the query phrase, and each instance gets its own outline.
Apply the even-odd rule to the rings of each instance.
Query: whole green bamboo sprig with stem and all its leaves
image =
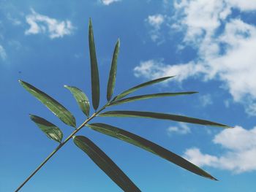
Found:
[[[55,126],[53,123],[50,123],[48,120],[45,120],[44,118],[41,118],[37,115],[30,115],[30,118],[34,123],[37,124],[37,126],[50,138],[53,139],[56,142],[59,142],[59,145],[56,147],[56,149],[53,150],[50,155],[48,155],[47,158],[45,158],[44,161],[42,161],[42,164],[40,164],[37,169],[34,170],[34,172],[31,173],[29,177],[24,180],[24,182],[17,188],[16,191],[19,191],[20,188],[23,187],[30,179],[31,177],[36,174],[39,169],[42,168],[42,166],[45,165],[47,161],[50,160],[50,158],[57,153],[61,147],[63,147],[69,140],[73,140],[75,143],[75,146],[80,148],[80,150],[83,150],[84,153],[89,155],[89,158],[91,158],[92,161],[94,161],[97,166],[99,166],[100,169],[102,169],[105,174],[110,177],[113,182],[116,183],[123,191],[140,191],[137,185],[132,182],[132,180],[127,177],[127,175],[122,172],[120,168],[106,155],[97,145],[94,144],[94,142],[91,141],[91,139],[87,138],[86,136],[80,136],[77,135],[77,133],[81,130],[81,128],[91,128],[94,131],[98,131],[101,134],[106,134],[110,137],[115,137],[116,139],[120,139],[124,142],[128,142],[129,144],[135,145],[137,147],[142,148],[143,150],[147,150],[150,153],[154,153],[155,155],[158,155],[161,158],[165,158],[165,160],[172,162],[173,164],[176,164],[177,166],[181,166],[184,169],[187,169],[189,172],[193,172],[195,174],[198,174],[200,176],[209,178],[211,180],[217,180],[215,177],[211,176],[211,174],[208,174],[203,169],[200,169],[200,167],[196,166],[195,164],[192,164],[191,162],[187,161],[186,159],[182,158],[179,155],[176,155],[175,153],[171,152],[170,150],[165,149],[164,147],[161,147],[154,142],[148,141],[147,139],[144,139],[143,137],[140,137],[136,134],[132,134],[129,131],[125,131],[121,128],[117,128],[115,126],[110,126],[105,123],[90,123],[91,120],[102,118],[102,117],[116,117],[116,118],[125,118],[125,117],[134,117],[134,118],[155,118],[160,120],[174,120],[178,122],[184,122],[184,123],[195,123],[200,124],[203,126],[219,126],[222,128],[230,128],[230,126],[226,126],[222,123],[215,123],[209,120],[202,120],[198,118],[190,118],[187,116],[182,115],[173,115],[173,114],[166,114],[166,113],[159,113],[159,112],[146,112],[146,111],[130,111],[130,110],[118,110],[118,111],[105,111],[103,110],[109,109],[112,106],[124,104],[127,102],[133,102],[138,101],[142,99],[153,99],[153,98],[159,98],[159,97],[165,97],[165,96],[181,96],[181,95],[189,95],[194,94],[197,92],[179,92],[179,93],[152,93],[152,94],[146,94],[146,95],[139,95],[139,96],[128,96],[130,93],[133,93],[137,91],[140,88],[145,88],[148,85],[154,85],[158,82],[163,82],[165,80],[169,80],[170,78],[173,78],[173,76],[170,77],[162,77],[156,80],[150,80],[148,82],[144,82],[140,85],[137,85],[133,88],[129,88],[126,91],[119,93],[117,96],[113,96],[113,91],[116,84],[116,70],[117,70],[117,60],[118,60],[118,53],[119,53],[119,46],[120,41],[116,42],[116,47],[113,51],[113,59],[112,64],[110,67],[109,72],[109,78],[108,78],[108,88],[107,88],[107,101],[106,104],[99,108],[99,72],[98,72],[98,66],[97,66],[97,55],[96,55],[96,49],[94,45],[94,34],[93,34],[93,28],[91,19],[89,20],[89,52],[90,52],[90,58],[91,58],[91,100],[92,100],[92,106],[94,108],[94,113],[90,114],[90,107],[91,102],[89,101],[88,97],[86,96],[83,91],[80,89],[74,87],[74,86],[68,86],[64,85],[64,88],[67,88],[72,95],[74,96],[75,100],[78,103],[78,106],[80,107],[80,110],[84,113],[85,120],[83,123],[80,124],[80,126],[76,126],[75,117],[72,115],[67,108],[65,108],[62,104],[60,104],[58,101],[53,99],[52,97],[48,96],[48,94],[40,91],[38,88],[35,88],[33,85],[29,84],[28,82],[25,82],[23,80],[19,80],[20,84],[23,86],[23,88],[26,89],[26,91],[29,91],[33,96],[35,96],[39,101],[42,102],[42,104],[45,104],[45,107],[48,107],[48,109],[54,113],[63,123],[67,124],[68,126],[71,126],[75,128],[74,131],[72,131],[72,134],[70,134],[66,139],[63,139],[63,134],[61,132],[61,129]]]

